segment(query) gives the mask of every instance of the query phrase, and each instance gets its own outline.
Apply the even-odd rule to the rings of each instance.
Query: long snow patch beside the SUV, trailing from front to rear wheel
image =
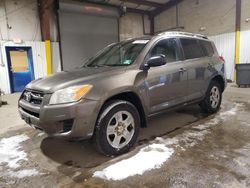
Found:
[[[93,177],[106,180],[123,180],[129,176],[142,175],[145,171],[160,168],[174,154],[173,148],[180,148],[185,151],[186,148],[194,147],[210,133],[210,128],[236,115],[240,107],[242,105],[236,103],[234,108],[220,112],[206,123],[193,126],[194,130],[186,130],[173,138],[157,137],[156,143],[142,148],[131,158],[112,164],[102,171],[94,172]]]

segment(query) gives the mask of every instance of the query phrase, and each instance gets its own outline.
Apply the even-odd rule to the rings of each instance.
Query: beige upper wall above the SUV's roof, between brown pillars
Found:
[[[234,32],[236,0],[185,0],[178,4],[179,26],[184,31],[217,35]],[[155,30],[176,27],[176,7],[155,18]],[[200,31],[206,27],[205,31]]]

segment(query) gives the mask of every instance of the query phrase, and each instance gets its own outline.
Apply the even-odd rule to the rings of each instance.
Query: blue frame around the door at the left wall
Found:
[[[31,72],[31,80],[35,79],[32,47],[31,46],[5,46],[6,59],[7,59],[7,65],[8,65],[8,73],[9,73],[9,82],[10,82],[10,92],[11,93],[14,92],[14,82],[13,82],[13,74],[11,71],[10,51],[18,51],[18,50],[24,50],[27,52],[28,66],[29,66],[30,72]]]

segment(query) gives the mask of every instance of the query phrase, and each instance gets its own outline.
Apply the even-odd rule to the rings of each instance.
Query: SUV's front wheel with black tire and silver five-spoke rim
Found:
[[[112,100],[104,105],[96,124],[96,149],[107,156],[126,153],[135,144],[139,129],[137,108],[128,101]]]

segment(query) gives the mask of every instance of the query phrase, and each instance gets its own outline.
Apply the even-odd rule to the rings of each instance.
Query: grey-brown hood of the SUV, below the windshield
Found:
[[[114,74],[125,72],[125,67],[86,67],[74,71],[63,71],[44,78],[32,81],[27,89],[53,93],[59,89],[80,85],[94,84],[98,79],[104,79]]]

